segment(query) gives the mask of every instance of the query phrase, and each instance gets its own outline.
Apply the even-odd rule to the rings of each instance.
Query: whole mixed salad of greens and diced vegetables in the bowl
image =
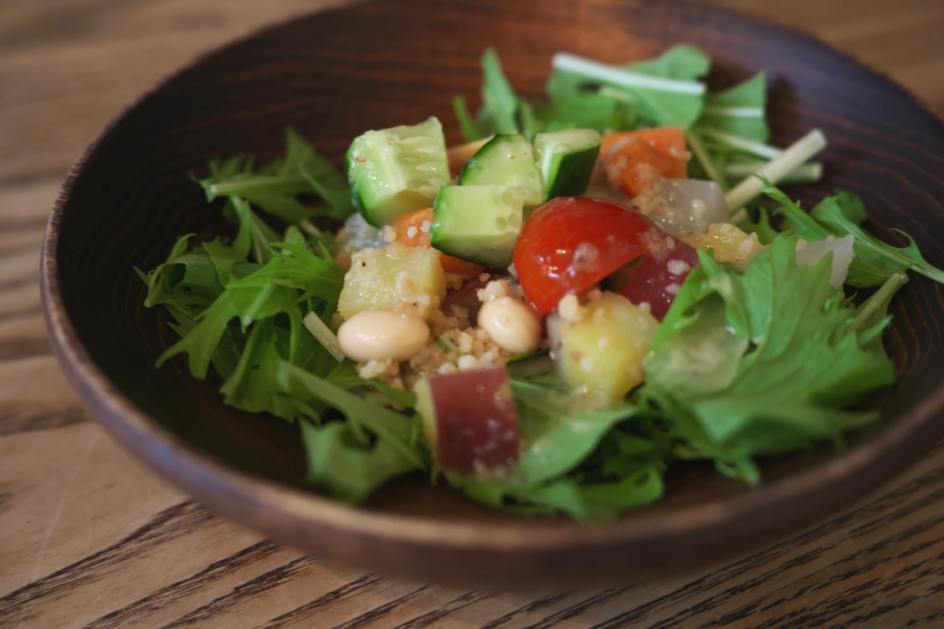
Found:
[[[186,354],[226,404],[294,422],[303,482],[351,503],[420,473],[607,520],[679,461],[753,485],[759,458],[841,447],[894,381],[890,300],[944,272],[856,195],[778,189],[818,180],[825,138],[769,145],[765,75],[711,93],[710,64],[560,53],[531,103],[488,50],[462,145],[432,117],[366,131],[344,173],[292,129],[260,168],[212,160],[194,179],[232,235],[136,270],[180,337],[158,366]]]

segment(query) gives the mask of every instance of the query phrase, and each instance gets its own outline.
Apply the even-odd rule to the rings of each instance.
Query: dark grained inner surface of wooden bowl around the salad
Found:
[[[866,201],[874,233],[903,245],[889,229],[902,228],[930,262],[944,266],[944,246],[935,238],[944,234],[944,127],[909,95],[816,41],[699,5],[394,0],[278,26],[203,58],[103,135],[62,208],[56,252],[76,335],[127,399],[195,450],[297,484],[305,464],[293,426],[224,406],[219,381],[194,380],[183,358],[154,368],[175,335],[160,308],[143,306],[145,290],[133,268],[154,268],[179,235],[210,238],[227,228],[220,207],[206,203],[188,174],[203,172],[209,157],[276,157],[286,125],[335,163],[363,130],[430,115],[443,121],[447,141],[457,143],[451,100],[464,93],[477,103],[478,60],[490,45],[517,91],[533,99],[542,94],[557,51],[618,63],[683,41],[715,60],[713,88],[767,70],[774,143],[789,143],[812,127],[826,133],[825,179],[789,190],[805,207],[834,187],[854,191]],[[884,420],[853,436],[853,444],[880,434],[944,381],[942,311],[940,287],[912,273],[886,337],[900,380],[870,402],[885,408]],[[768,481],[783,478],[827,455],[834,451],[769,460],[763,469]],[[667,500],[652,508],[763,490],[727,481],[710,466],[689,465],[673,472]],[[397,481],[369,507],[455,520],[504,518],[422,478]]]

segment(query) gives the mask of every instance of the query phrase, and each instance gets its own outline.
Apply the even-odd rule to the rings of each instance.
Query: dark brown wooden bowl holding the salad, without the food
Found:
[[[885,420],[836,454],[764,463],[745,488],[708,465],[680,467],[658,505],[607,524],[515,519],[407,478],[360,508],[299,488],[295,428],[224,406],[177,358],[160,308],[143,307],[132,267],[154,268],[178,235],[210,236],[220,208],[188,174],[208,157],[275,157],[292,124],[340,161],[368,128],[439,116],[476,94],[496,45],[514,86],[542,91],[553,53],[609,62],[689,41],[716,61],[713,87],[766,69],[770,120],[784,145],[818,126],[827,176],[861,194],[882,238],[901,227],[944,266],[944,126],[905,91],[818,41],[697,4],[655,1],[393,0],[302,18],[200,59],[145,94],[101,133],[65,181],[46,236],[49,332],[85,403],[128,449],[201,503],[281,543],[370,571],[486,588],[583,587],[664,576],[796,532],[876,488],[944,432],[942,290],[912,273],[886,343],[899,382],[878,396]]]

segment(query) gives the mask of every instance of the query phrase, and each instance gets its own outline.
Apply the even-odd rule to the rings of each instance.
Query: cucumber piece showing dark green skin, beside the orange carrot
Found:
[[[587,189],[599,153],[594,129],[565,129],[534,136],[534,154],[548,199],[580,196]]]

